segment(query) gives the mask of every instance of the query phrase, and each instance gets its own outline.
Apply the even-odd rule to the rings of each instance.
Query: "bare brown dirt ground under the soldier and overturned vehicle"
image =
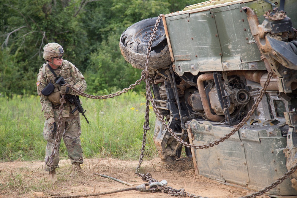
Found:
[[[57,181],[49,181],[43,171],[43,161],[16,161],[0,163],[0,198],[37,196],[73,196],[94,194],[130,188],[109,178],[93,175],[99,173],[132,184],[132,187],[145,183],[135,175],[138,161],[119,159],[85,159],[82,169],[87,178],[75,175],[70,177],[69,160],[61,160],[57,169]],[[184,188],[190,194],[202,197],[233,198],[252,194],[254,191],[224,185],[202,175],[195,176],[192,160],[184,158],[173,167],[162,165],[159,158],[143,161],[141,171],[149,172],[158,181],[167,180],[174,189]],[[169,194],[126,191],[116,194],[93,197],[172,197]],[[259,196],[268,198],[266,195]]]

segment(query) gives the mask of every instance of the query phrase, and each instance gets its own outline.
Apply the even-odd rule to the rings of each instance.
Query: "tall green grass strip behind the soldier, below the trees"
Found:
[[[111,99],[95,100],[80,96],[86,109],[81,121],[81,144],[85,157],[138,159],[143,139],[145,101],[133,91]],[[45,118],[39,96],[0,96],[0,161],[42,160],[46,141],[42,137]],[[150,111],[150,127],[145,156],[156,157],[152,140],[155,115]],[[62,141],[61,158],[67,158]]]

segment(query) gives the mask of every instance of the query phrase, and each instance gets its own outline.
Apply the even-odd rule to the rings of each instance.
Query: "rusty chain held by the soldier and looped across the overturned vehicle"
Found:
[[[150,80],[149,80],[149,71],[147,69],[148,69],[148,62],[149,62],[149,57],[150,57],[150,52],[151,52],[152,40],[153,40],[154,35],[155,35],[156,31],[157,31],[157,27],[159,25],[161,17],[162,17],[162,15],[160,14],[158,16],[158,19],[156,20],[156,24],[154,26],[153,33],[151,34],[151,37],[150,37],[150,40],[149,40],[149,43],[148,43],[146,62],[145,62],[145,66],[144,66],[145,69],[142,71],[140,79],[137,80],[134,84],[130,85],[128,88],[124,88],[122,91],[118,91],[118,92],[116,92],[114,94],[109,94],[109,95],[104,95],[104,96],[93,96],[93,95],[90,95],[90,94],[86,94],[84,92],[79,91],[78,89],[75,89],[72,85],[64,84],[65,86],[71,88],[75,93],[77,93],[77,94],[79,94],[81,96],[84,96],[84,97],[87,97],[87,98],[90,98],[90,99],[107,99],[107,98],[113,98],[115,96],[119,96],[122,93],[126,93],[130,89],[135,88],[136,85],[139,85],[142,80],[145,81],[145,83],[146,83],[146,112],[145,112],[145,122],[143,123],[143,141],[142,141],[142,148],[140,150],[141,153],[140,153],[139,164],[138,164],[138,166],[136,168],[135,174],[138,175],[139,177],[141,177],[143,180],[149,182],[149,183],[157,182],[157,180],[152,178],[150,173],[141,174],[141,173],[139,173],[139,171],[140,171],[141,163],[143,161],[143,156],[144,156],[144,151],[145,151],[145,146],[146,146],[146,133],[150,129],[149,128],[149,103],[150,102],[152,104],[154,113],[157,115],[157,118],[162,122],[163,125],[165,125],[165,128],[170,132],[171,136],[173,136],[173,138],[176,139],[176,141],[178,143],[180,143],[180,144],[182,144],[182,145],[184,145],[184,146],[186,146],[188,148],[195,148],[195,149],[209,148],[209,147],[213,147],[214,145],[218,145],[220,142],[224,142],[231,135],[235,134],[235,132],[237,132],[245,124],[245,122],[250,118],[250,116],[254,113],[255,109],[258,107],[259,103],[261,102],[261,100],[263,98],[263,95],[266,92],[266,88],[267,88],[267,86],[268,86],[268,84],[270,82],[270,79],[271,79],[272,75],[273,75],[272,71],[268,72],[268,76],[267,76],[267,79],[266,79],[266,81],[264,83],[264,87],[261,89],[260,95],[257,97],[255,104],[253,104],[252,109],[247,113],[247,116],[244,117],[243,120],[233,128],[233,130],[230,133],[226,134],[224,137],[221,137],[218,140],[215,140],[214,142],[209,142],[208,144],[203,144],[203,145],[192,145],[190,143],[184,142],[184,140],[180,139],[180,137],[178,137],[176,134],[173,133],[173,130],[170,129],[170,127],[166,123],[166,121],[163,120],[163,116],[160,114],[160,112],[159,112],[159,110],[157,108],[157,105],[156,105],[156,103],[155,103],[155,101],[153,99],[152,93],[151,93],[151,86],[150,86]],[[50,159],[49,159],[49,161],[47,163],[48,165],[50,165],[50,163],[52,163],[53,156],[56,153],[57,145],[59,143],[59,135],[60,135],[60,132],[61,132],[61,129],[60,129],[61,128],[61,114],[62,114],[62,111],[64,110],[63,103],[65,102],[64,95],[62,95],[62,98],[61,98],[60,102],[61,102],[61,106],[59,108],[60,113],[59,113],[59,121],[58,121],[57,133],[56,133],[55,146],[54,146],[54,149],[52,151],[52,154],[50,155]],[[266,188],[264,188],[264,189],[262,189],[262,190],[260,190],[258,192],[255,192],[255,193],[253,193],[251,195],[247,195],[247,196],[240,197],[240,198],[257,197],[257,196],[262,195],[265,192],[268,192],[269,190],[275,188],[278,184],[282,183],[283,180],[289,178],[289,176],[291,174],[293,174],[296,171],[296,169],[297,169],[297,163],[289,171],[287,171],[285,173],[285,175],[278,178],[271,185],[267,186]],[[167,187],[167,186],[159,187],[158,189],[161,190],[163,193],[170,194],[171,196],[181,196],[181,197],[186,196],[186,197],[194,197],[194,198],[207,198],[207,197],[196,196],[194,194],[189,194],[188,192],[184,191],[184,189],[179,189],[178,190],[178,189],[173,189],[172,187]]]

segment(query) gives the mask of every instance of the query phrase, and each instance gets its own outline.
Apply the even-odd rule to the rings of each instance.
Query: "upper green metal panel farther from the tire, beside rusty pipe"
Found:
[[[240,4],[210,10],[214,13],[222,48],[224,70],[265,70],[251,34],[247,14]]]

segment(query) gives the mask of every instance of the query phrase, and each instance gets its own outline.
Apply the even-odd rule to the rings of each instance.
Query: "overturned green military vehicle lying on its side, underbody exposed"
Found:
[[[121,35],[121,53],[135,68],[144,69],[156,19]],[[154,101],[174,134],[188,145],[216,142],[257,107],[225,141],[185,147],[197,175],[260,190],[296,164],[294,26],[295,0],[214,0],[162,16],[147,65]],[[154,143],[164,163],[181,155],[183,145],[158,119]],[[269,196],[297,197],[296,179],[295,172]]]

